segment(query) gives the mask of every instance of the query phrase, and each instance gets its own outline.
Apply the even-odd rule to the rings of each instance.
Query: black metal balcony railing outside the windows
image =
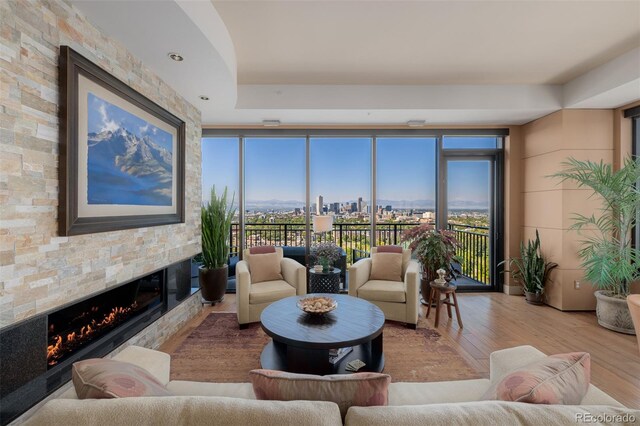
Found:
[[[416,226],[414,223],[376,224],[376,245],[401,244],[402,233]],[[245,245],[247,248],[275,246],[306,246],[304,223],[247,223]],[[489,284],[489,228],[483,226],[450,223],[448,229],[455,233],[462,245],[458,256],[462,274],[482,284]],[[231,252],[240,251],[240,225],[231,225]],[[368,223],[336,223],[333,231],[313,234],[312,241],[333,241],[347,253],[347,264],[371,251],[371,225]]]

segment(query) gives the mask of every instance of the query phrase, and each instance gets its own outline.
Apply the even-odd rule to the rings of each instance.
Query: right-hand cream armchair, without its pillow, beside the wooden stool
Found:
[[[377,252],[374,247],[371,254]],[[400,321],[411,328],[418,324],[420,267],[411,260],[411,250],[402,251],[404,281],[370,280],[371,258],[360,259],[349,268],[349,295],[378,306],[386,319]]]

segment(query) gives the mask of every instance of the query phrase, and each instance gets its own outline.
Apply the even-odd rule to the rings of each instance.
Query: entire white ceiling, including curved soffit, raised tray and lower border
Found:
[[[640,99],[640,0],[72,2],[204,125],[507,125]]]

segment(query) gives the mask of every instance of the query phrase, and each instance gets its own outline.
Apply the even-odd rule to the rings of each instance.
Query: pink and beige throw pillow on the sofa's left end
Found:
[[[144,368],[112,359],[87,359],[73,364],[73,386],[79,399],[171,396]]]

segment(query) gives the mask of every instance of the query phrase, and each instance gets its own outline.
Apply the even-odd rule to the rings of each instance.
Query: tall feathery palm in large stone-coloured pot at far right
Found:
[[[589,230],[578,255],[585,278],[598,290],[596,314],[598,324],[621,333],[635,334],[631,313],[625,301],[629,285],[640,279],[640,250],[631,236],[636,226],[640,191],[640,157],[627,157],[614,171],[603,161],[580,161],[569,158],[564,170],[553,175],[562,181],[589,188],[602,199],[598,214],[574,215],[572,229]]]

